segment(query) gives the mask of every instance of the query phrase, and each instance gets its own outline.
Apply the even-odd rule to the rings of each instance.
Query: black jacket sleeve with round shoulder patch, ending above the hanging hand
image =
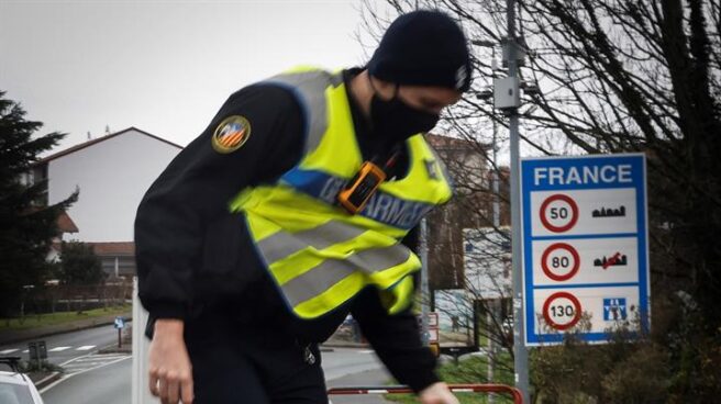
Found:
[[[246,141],[219,153],[212,136],[226,117],[247,120]],[[143,198],[135,217],[140,299],[155,318],[184,318],[198,298],[209,226],[236,228],[229,202],[242,189],[278,178],[300,158],[302,115],[285,89],[255,85],[234,93],[208,128],[168,165]],[[291,152],[292,150],[292,152]],[[215,260],[232,256],[218,254]]]

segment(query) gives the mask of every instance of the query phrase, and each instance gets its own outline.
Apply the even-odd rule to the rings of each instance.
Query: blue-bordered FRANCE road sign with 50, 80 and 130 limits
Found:
[[[525,341],[607,340],[620,321],[647,326],[645,159],[641,154],[521,161]]]

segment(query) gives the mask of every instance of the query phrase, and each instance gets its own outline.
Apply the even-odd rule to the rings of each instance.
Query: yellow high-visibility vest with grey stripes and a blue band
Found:
[[[386,181],[358,214],[335,203],[363,164],[341,72],[300,68],[268,82],[292,90],[306,115],[304,155],[277,183],[231,203],[245,214],[260,258],[292,312],[315,318],[375,285],[389,313],[412,301],[419,258],[400,240],[452,195],[422,135],[407,142],[409,171]]]

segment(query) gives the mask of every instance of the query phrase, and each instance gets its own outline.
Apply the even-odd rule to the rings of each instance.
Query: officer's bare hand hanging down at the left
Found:
[[[192,368],[180,319],[158,319],[149,349],[151,393],[163,404],[192,404]]]

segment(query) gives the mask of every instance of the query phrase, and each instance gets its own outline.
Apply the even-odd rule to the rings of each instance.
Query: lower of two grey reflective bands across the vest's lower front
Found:
[[[368,274],[401,265],[411,251],[401,244],[385,248],[373,248],[355,254],[345,260],[326,259],[318,267],[291,279],[281,285],[290,305],[296,306],[313,299],[356,271]]]

